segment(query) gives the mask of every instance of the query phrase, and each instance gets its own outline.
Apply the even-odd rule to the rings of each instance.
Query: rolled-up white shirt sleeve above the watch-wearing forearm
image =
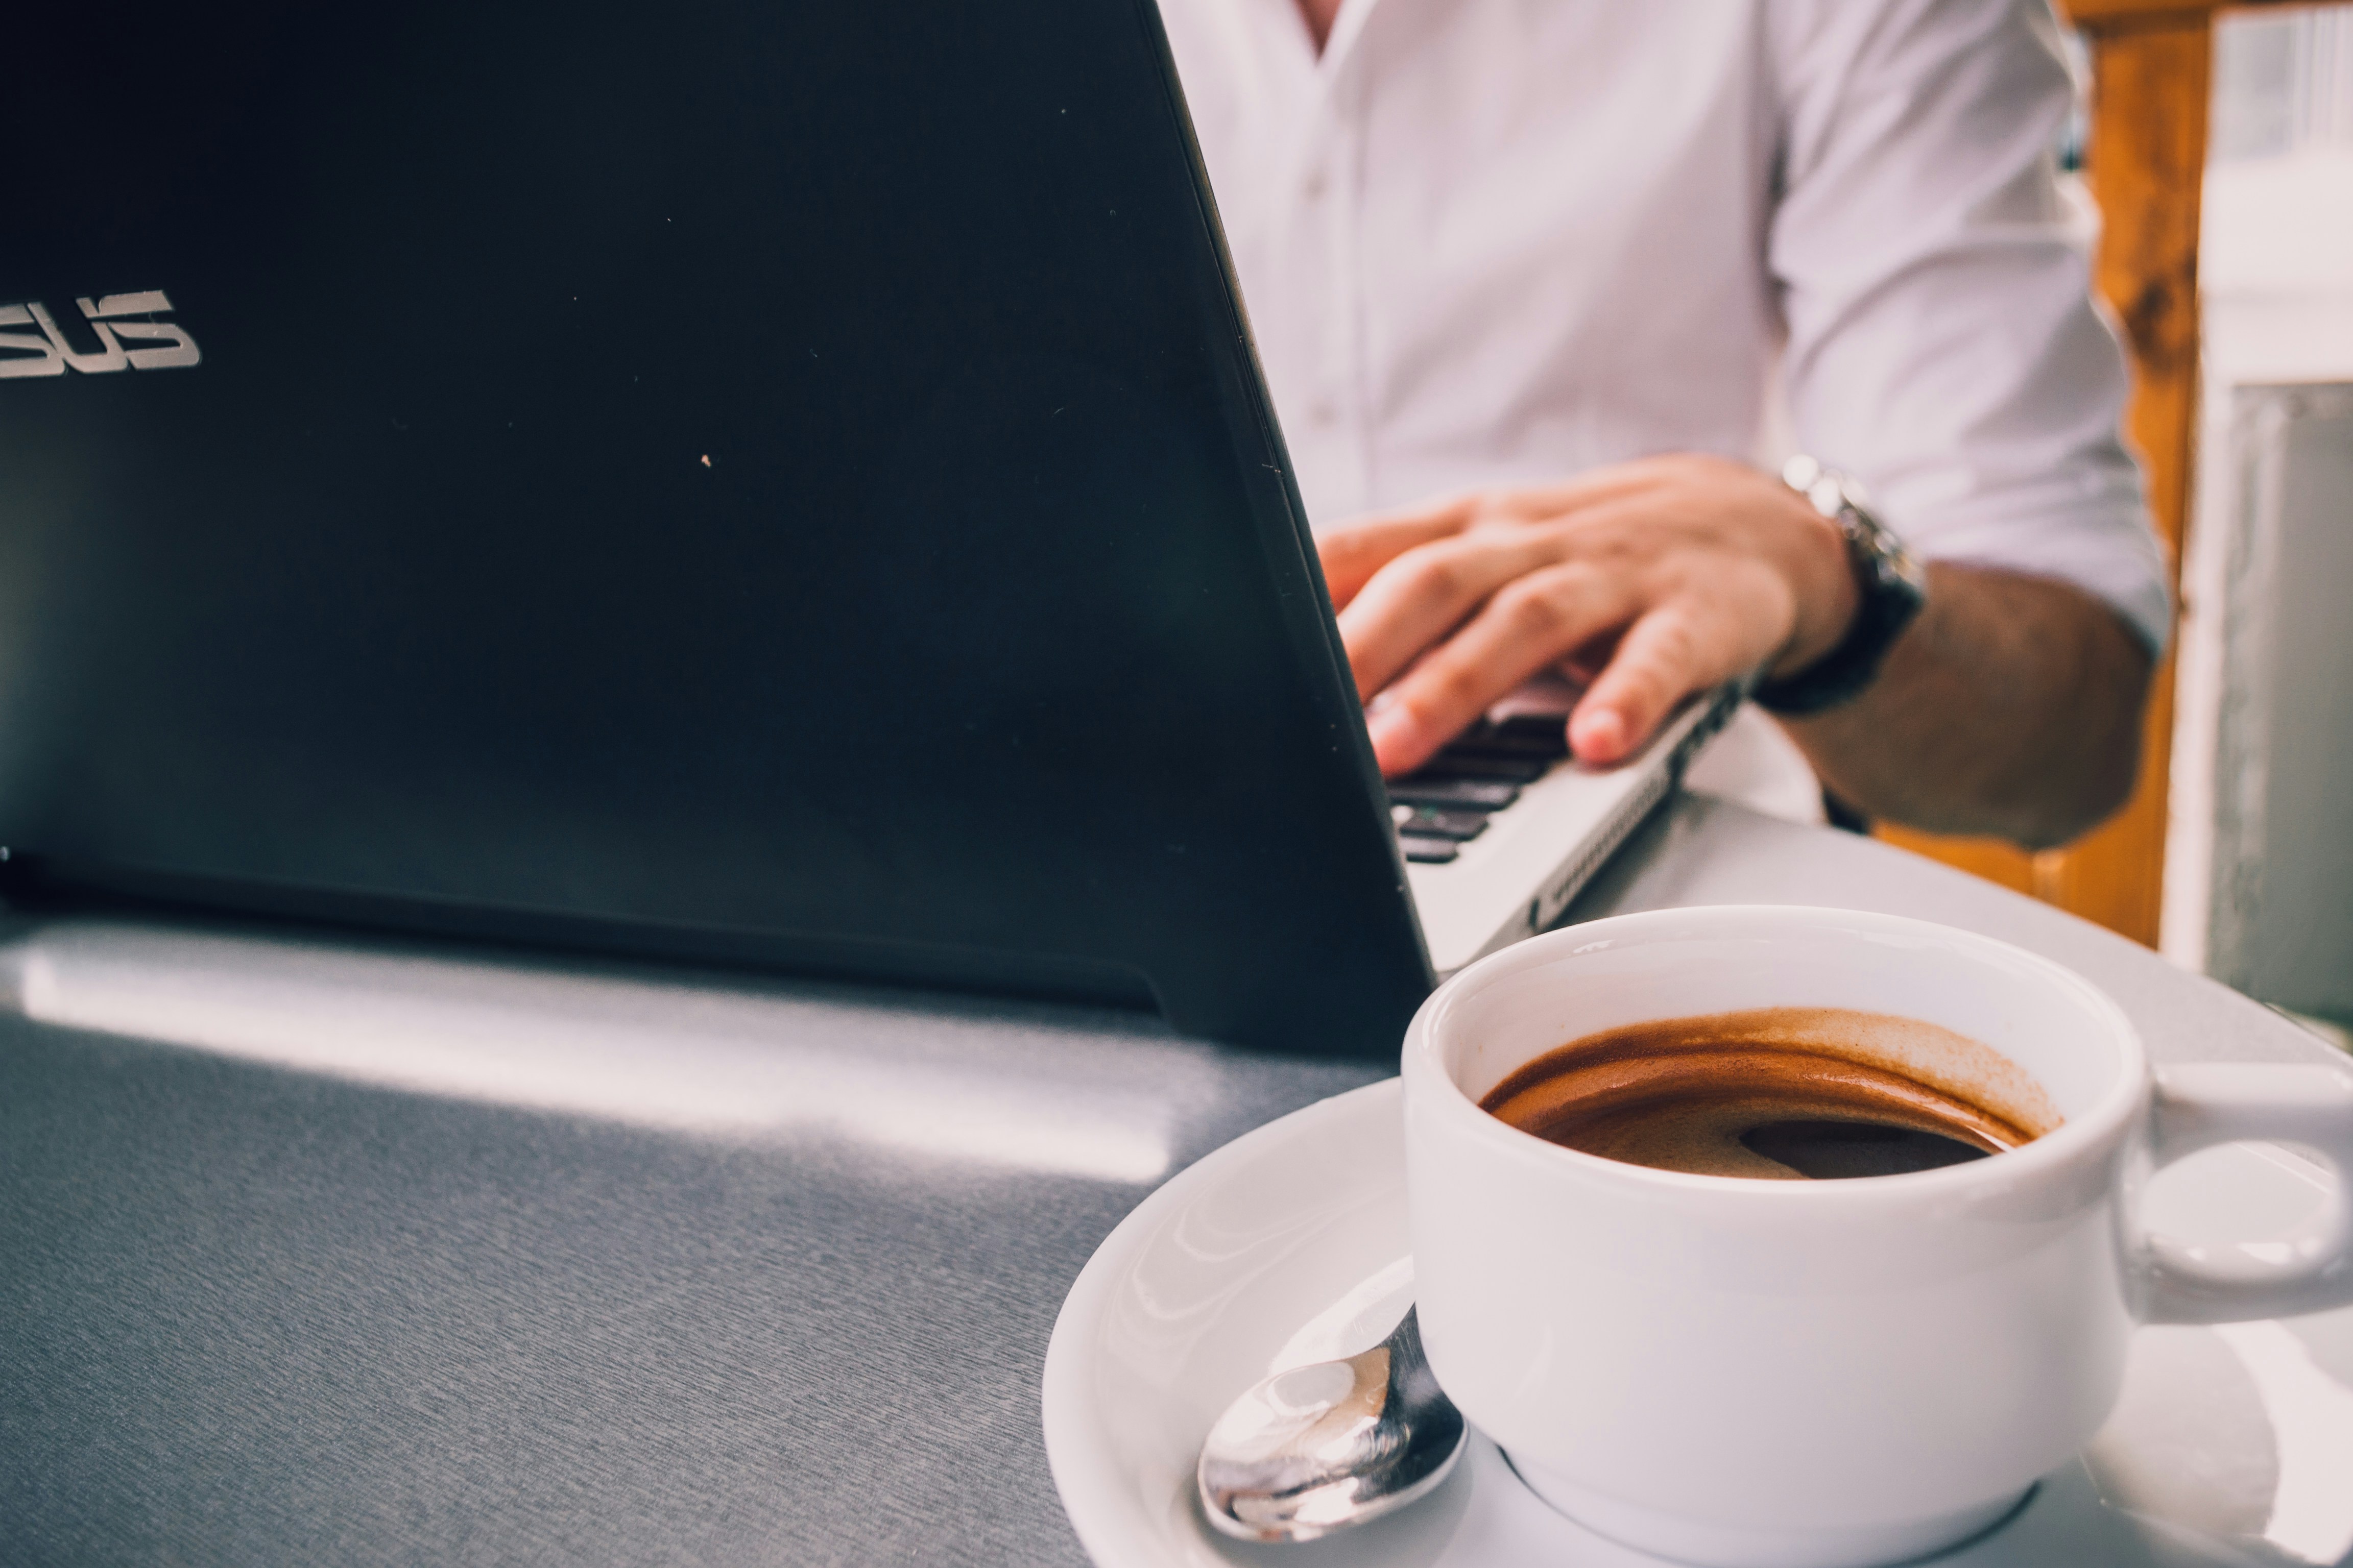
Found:
[[[2165,646],[2125,360],[2052,160],[2071,87],[2047,0],[1814,0],[1777,21],[1765,261],[1800,444],[1861,477],[1922,559],[2075,583]]]

